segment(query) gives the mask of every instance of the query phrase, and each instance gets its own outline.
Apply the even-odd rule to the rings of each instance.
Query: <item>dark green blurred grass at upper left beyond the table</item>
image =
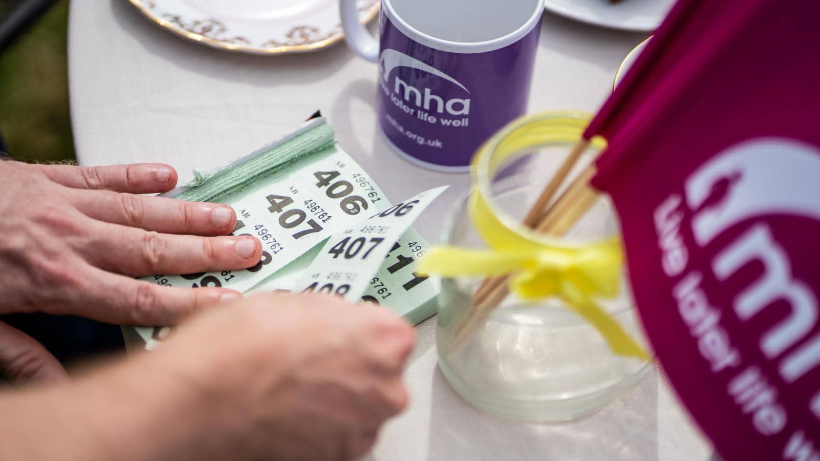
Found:
[[[68,105],[68,0],[0,54],[0,132],[19,160],[75,158]]]

